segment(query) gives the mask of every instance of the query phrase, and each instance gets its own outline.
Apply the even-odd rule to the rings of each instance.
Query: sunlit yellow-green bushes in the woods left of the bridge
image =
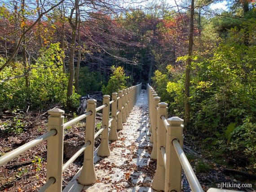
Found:
[[[50,44],[40,49],[40,57],[31,64],[29,87],[25,86],[25,78],[11,79],[0,83],[1,109],[42,109],[55,103],[66,103],[66,87],[68,77],[62,71],[63,51],[59,44]],[[0,58],[0,65],[4,59]],[[22,63],[17,62],[0,72],[0,79],[7,79],[24,72]],[[72,99],[79,98],[76,94]],[[79,102],[79,101],[78,101]]]

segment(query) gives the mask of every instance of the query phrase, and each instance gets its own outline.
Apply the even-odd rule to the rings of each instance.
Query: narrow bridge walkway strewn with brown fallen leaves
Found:
[[[97,182],[90,186],[79,184],[79,170],[63,192],[153,192],[150,186],[156,161],[150,159],[152,144],[145,90],[123,125],[124,129],[118,132],[119,140],[110,143],[109,157],[98,157],[97,150],[94,153]]]

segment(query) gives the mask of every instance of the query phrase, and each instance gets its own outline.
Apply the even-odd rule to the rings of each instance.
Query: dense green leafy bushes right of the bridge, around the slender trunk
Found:
[[[256,19],[241,25],[220,39],[212,55],[198,53],[193,58],[189,98],[193,129],[189,130],[200,135],[209,150],[223,151],[223,156],[255,169]],[[185,61],[186,57],[179,58],[179,62]],[[152,79],[161,100],[167,98],[171,111],[182,118],[184,71],[169,67],[168,73],[155,71]]]

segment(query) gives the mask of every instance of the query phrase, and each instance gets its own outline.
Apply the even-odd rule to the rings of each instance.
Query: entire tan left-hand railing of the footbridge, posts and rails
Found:
[[[0,157],[0,166],[21,155],[30,148],[35,147],[44,140],[47,140],[47,170],[46,183],[39,190],[40,192],[61,192],[62,173],[71,165],[81,153],[84,152],[84,165],[79,176],[79,183],[84,185],[93,184],[97,180],[97,175],[93,164],[94,140],[101,136],[101,143],[97,155],[101,157],[110,156],[108,140],[118,140],[117,130],[123,129],[123,122],[127,122],[127,117],[133,109],[135,102],[141,92],[141,84],[129,87],[110,96],[103,96],[103,105],[96,108],[97,100],[87,100],[87,113],[80,115],[64,123],[64,111],[61,109],[49,110],[48,132],[35,140],[14,149],[13,151]],[[111,118],[110,118],[111,105]],[[96,112],[102,109],[102,128],[95,133]],[[63,137],[64,129],[76,122],[86,118],[84,145],[63,165]],[[110,126],[110,132],[108,130]]]

